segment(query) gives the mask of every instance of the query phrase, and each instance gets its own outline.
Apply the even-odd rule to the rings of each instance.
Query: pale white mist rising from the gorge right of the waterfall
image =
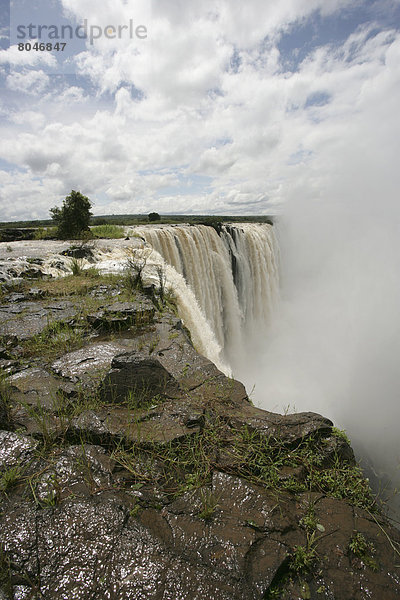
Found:
[[[263,408],[314,411],[398,485],[400,228],[395,196],[293,202],[278,226],[282,298],[236,376]]]

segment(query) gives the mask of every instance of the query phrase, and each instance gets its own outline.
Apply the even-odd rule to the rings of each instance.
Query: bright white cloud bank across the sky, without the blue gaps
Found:
[[[292,195],[354,187],[335,172],[342,160],[359,169],[364,157],[387,178],[358,185],[368,194],[389,189],[397,181],[399,33],[359,27],[339,47],[311,50],[295,72],[285,71],[276,45],[314,10],[347,4],[253,0],[244,11],[236,0],[154,3],[150,53],[101,40],[78,57],[93,91],[75,80],[55,85],[38,70],[10,74],[9,92],[36,92],[36,108],[19,98],[20,110],[5,111],[0,156],[26,170],[24,181],[62,182],[64,195],[85,187],[103,199],[103,212],[107,198],[114,212],[268,212]],[[105,2],[96,13],[91,0],[64,6],[104,24],[124,22],[133,4]],[[190,187],[192,175],[212,179]]]

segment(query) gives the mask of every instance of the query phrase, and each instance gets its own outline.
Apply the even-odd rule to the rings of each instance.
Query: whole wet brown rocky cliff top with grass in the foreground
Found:
[[[345,436],[252,406],[173,307],[96,273],[3,291],[0,598],[400,598]]]

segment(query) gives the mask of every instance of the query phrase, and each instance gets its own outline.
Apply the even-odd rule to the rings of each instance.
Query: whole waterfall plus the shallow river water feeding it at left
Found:
[[[278,299],[278,250],[271,225],[149,225],[128,230],[129,241],[93,243],[82,268],[121,272],[129,256],[145,260],[147,284],[159,283],[160,268],[175,294],[178,311],[197,350],[231,375],[240,371],[254,339],[265,332]],[[0,280],[32,266],[43,274],[71,273],[64,242],[13,242],[0,253]]]

